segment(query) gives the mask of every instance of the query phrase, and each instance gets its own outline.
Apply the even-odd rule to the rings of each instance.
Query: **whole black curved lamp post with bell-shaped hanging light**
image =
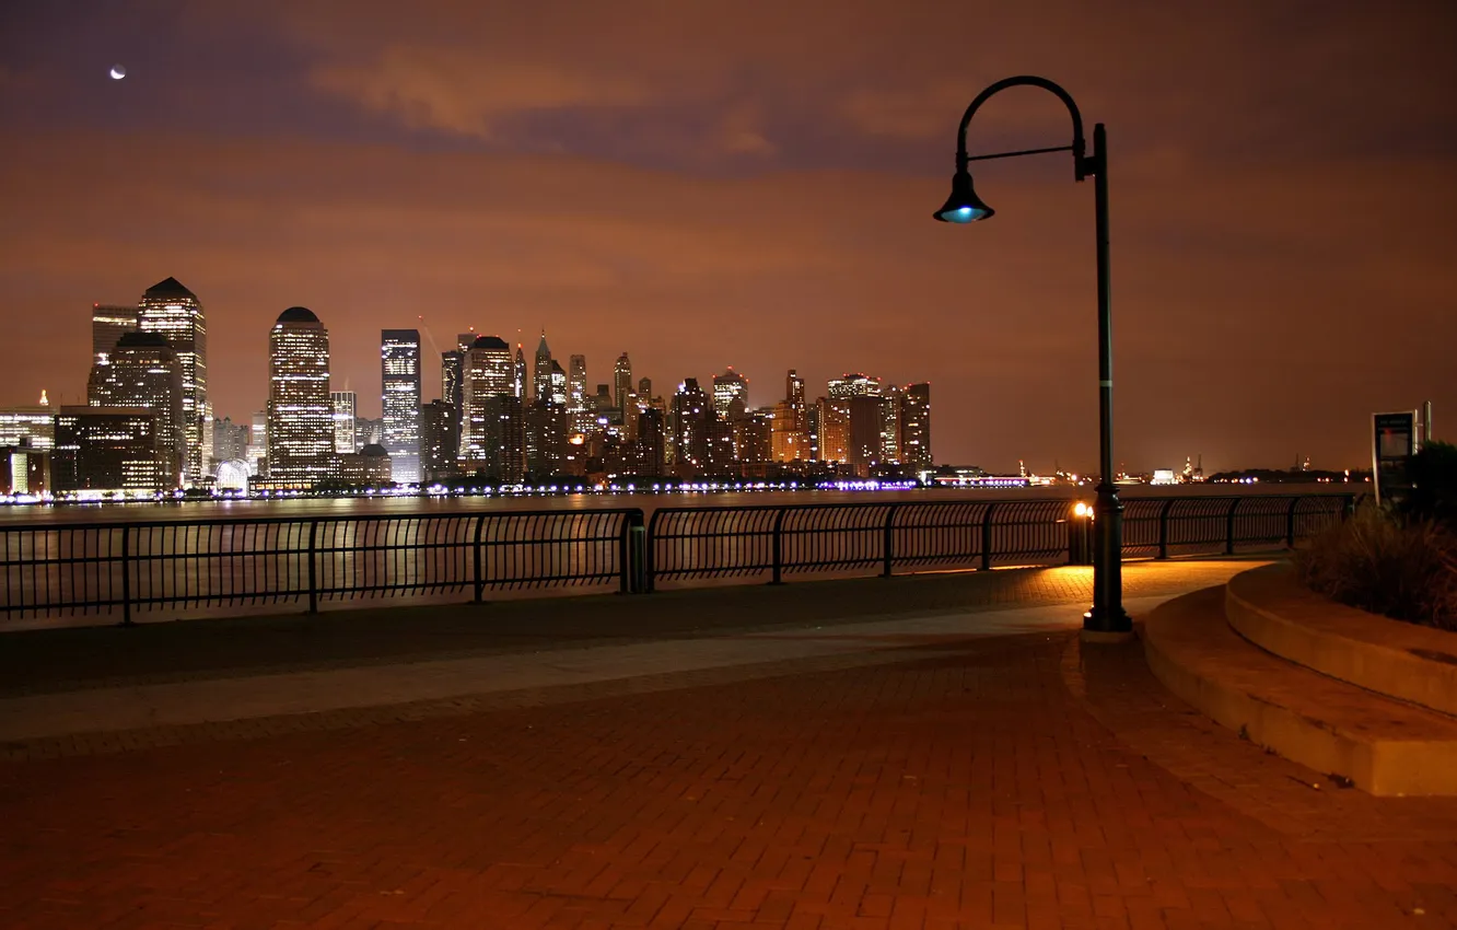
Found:
[[[1072,117],[1072,144],[1050,149],[1023,149],[995,155],[966,155],[966,127],[988,99],[1007,87],[1032,86],[1049,90],[1062,101]],[[1093,506],[1093,608],[1083,615],[1084,633],[1125,634],[1132,621],[1123,612],[1123,504],[1113,484],[1113,325],[1112,292],[1107,276],[1107,134],[1103,124],[1093,127],[1093,155],[1084,155],[1083,115],[1072,96],[1046,77],[1020,76],[998,80],[976,95],[962,115],[956,133],[956,173],[951,195],[932,216],[944,223],[975,223],[995,211],[972,187],[970,162],[1010,159],[1049,152],[1072,153],[1072,178],[1093,175],[1093,203],[1097,223],[1097,378],[1099,378],[1099,471],[1097,503]]]

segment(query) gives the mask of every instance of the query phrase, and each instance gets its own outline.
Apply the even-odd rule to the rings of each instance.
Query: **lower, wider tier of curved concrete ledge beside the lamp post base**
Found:
[[[1254,743],[1371,794],[1457,794],[1457,720],[1271,656],[1224,618],[1224,589],[1148,615],[1144,650],[1166,688]]]

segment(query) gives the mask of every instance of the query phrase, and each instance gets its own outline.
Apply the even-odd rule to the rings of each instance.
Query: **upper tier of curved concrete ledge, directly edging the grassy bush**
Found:
[[[1287,566],[1243,571],[1224,612],[1260,649],[1377,694],[1457,714],[1457,634],[1367,614],[1305,590]]]

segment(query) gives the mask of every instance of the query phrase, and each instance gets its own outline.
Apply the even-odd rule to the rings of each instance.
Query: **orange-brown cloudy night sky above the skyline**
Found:
[[[1087,469],[1091,181],[973,166],[995,219],[930,219],[1030,73],[1109,127],[1119,461],[1361,466],[1374,410],[1457,436],[1454,44],[1450,0],[4,0],[0,404],[77,402],[90,305],[175,276],[219,417],[305,305],[370,415],[424,315],[592,385],[930,380],[938,461]],[[1014,89],[969,144],[1069,136]]]

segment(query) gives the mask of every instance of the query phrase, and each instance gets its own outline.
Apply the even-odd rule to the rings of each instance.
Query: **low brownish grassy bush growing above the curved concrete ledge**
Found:
[[[1311,539],[1295,567],[1332,601],[1457,630],[1457,535],[1437,520],[1367,504]]]

